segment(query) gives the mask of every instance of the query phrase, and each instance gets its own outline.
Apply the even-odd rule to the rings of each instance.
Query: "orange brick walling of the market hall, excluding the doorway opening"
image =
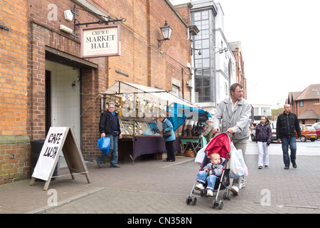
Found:
[[[191,63],[187,26],[168,0],[90,2],[113,18],[127,21],[121,26],[121,56],[88,58],[98,68],[82,68],[82,153],[86,160],[100,154],[99,93],[116,80],[172,90],[171,78],[182,81],[182,76],[186,91],[190,74],[186,65]],[[0,24],[10,28],[9,32],[0,30],[0,135],[25,136],[23,142],[0,138],[0,181],[26,175],[30,140],[46,137],[46,46],[80,58],[80,40],[59,29],[60,24],[73,28],[73,21],[65,21],[63,11],[73,10],[74,4],[65,0],[0,2]],[[99,20],[78,8],[78,22]],[[166,20],[174,31],[170,41],[159,48],[157,39],[162,39],[160,27]],[[80,36],[80,28],[77,33]]]

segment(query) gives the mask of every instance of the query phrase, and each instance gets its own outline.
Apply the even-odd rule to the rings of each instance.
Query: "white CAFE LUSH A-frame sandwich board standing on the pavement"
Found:
[[[48,190],[62,150],[73,180],[75,179],[75,174],[82,174],[85,175],[87,182],[90,184],[87,166],[82,157],[73,128],[51,127],[41,149],[36,167],[33,170],[31,186],[38,178],[46,181],[43,190]]]

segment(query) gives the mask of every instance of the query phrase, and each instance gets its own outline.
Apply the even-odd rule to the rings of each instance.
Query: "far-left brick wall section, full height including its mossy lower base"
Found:
[[[0,185],[28,175],[26,1],[0,1]],[[21,140],[21,138],[23,140]]]

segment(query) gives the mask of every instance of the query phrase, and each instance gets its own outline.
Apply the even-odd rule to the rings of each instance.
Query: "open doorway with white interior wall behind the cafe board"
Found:
[[[71,127],[81,145],[80,68],[46,60],[46,131]]]

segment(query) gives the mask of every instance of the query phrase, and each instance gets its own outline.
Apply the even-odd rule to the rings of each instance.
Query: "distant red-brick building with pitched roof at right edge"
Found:
[[[300,124],[313,124],[320,121],[320,84],[313,84],[302,92],[289,92],[287,104],[292,106]]]

